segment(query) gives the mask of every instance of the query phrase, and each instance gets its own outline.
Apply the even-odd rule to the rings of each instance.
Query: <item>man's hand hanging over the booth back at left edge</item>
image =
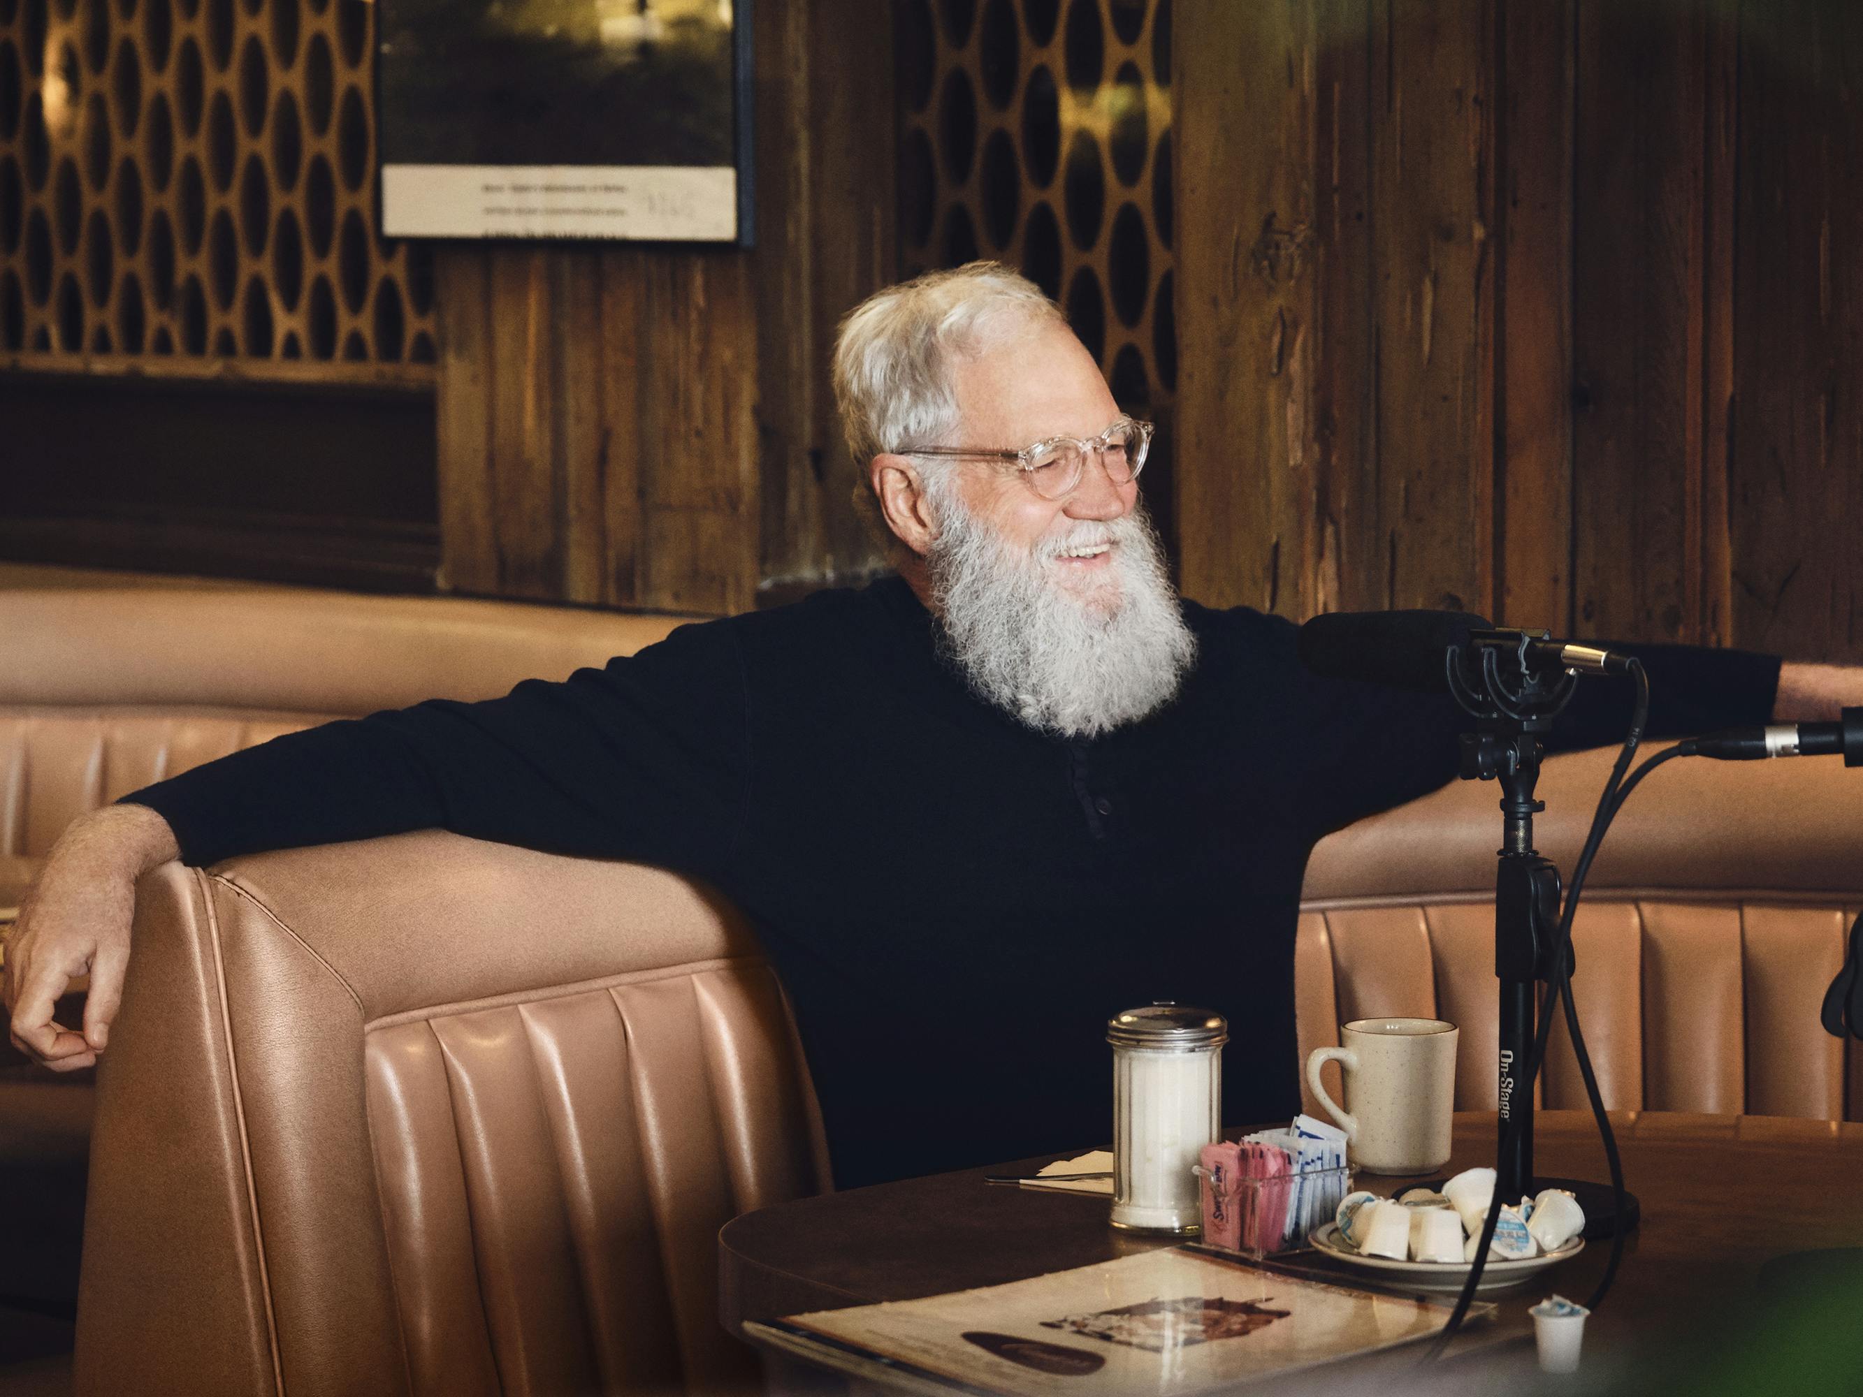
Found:
[[[136,879],[179,857],[175,831],[145,805],[110,805],[71,821],[7,937],[0,985],[13,1047],[60,1073],[97,1062],[123,1002]],[[82,1032],[52,1021],[80,974],[91,978]]]

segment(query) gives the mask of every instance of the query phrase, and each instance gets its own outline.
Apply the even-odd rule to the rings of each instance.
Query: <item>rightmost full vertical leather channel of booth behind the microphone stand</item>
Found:
[[[1824,1032],[1818,1010],[1848,928],[1835,907],[1742,907],[1749,1114],[1843,1119],[1843,1043]]]

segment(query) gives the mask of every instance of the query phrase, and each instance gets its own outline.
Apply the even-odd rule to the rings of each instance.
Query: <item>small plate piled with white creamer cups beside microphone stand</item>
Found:
[[[1468,1280],[1492,1200],[1494,1170],[1457,1173],[1440,1194],[1427,1188],[1399,1198],[1358,1192],[1347,1196],[1334,1220],[1308,1241],[1358,1270],[1377,1272],[1386,1283],[1453,1295]],[[1557,1188],[1502,1207],[1475,1289],[1483,1295],[1511,1291],[1571,1261],[1585,1250],[1584,1226],[1578,1200]]]

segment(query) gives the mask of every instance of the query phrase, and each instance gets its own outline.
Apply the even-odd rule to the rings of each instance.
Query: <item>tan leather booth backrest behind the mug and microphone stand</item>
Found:
[[[1546,764],[1537,842],[1563,872],[1613,756]],[[1580,1024],[1610,1108],[1863,1119],[1863,1054],[1818,1023],[1863,907],[1859,777],[1833,760],[1682,760],[1625,805],[1572,928]],[[1321,842],[1297,943],[1302,1054],[1353,1019],[1449,1019],[1462,1028],[1457,1108],[1494,1110],[1498,844],[1492,782]],[[1563,1023],[1541,1099],[1585,1106]]]

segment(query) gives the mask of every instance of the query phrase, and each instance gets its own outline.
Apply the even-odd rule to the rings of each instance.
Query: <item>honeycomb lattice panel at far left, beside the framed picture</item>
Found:
[[[0,350],[430,365],[373,50],[365,0],[0,0]]]

